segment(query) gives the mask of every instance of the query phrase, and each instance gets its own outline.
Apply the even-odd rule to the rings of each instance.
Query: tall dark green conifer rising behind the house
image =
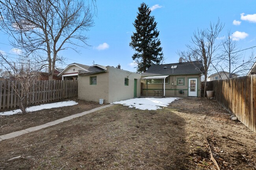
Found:
[[[150,16],[151,10],[144,2],[138,9],[133,24],[136,32],[131,37],[130,47],[136,51],[132,59],[138,64],[137,72],[142,73],[151,65],[160,64],[163,61],[163,52],[158,39],[157,22],[154,16]]]

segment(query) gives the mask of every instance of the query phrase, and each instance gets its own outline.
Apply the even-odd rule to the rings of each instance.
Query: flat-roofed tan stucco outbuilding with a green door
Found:
[[[106,70],[78,75],[78,99],[105,103],[140,97],[141,75],[107,66]]]

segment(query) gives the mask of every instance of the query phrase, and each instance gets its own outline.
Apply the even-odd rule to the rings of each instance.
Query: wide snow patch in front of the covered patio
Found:
[[[161,107],[167,107],[169,103],[177,99],[180,98],[135,98],[126,101],[113,102],[111,104],[123,104],[124,106],[129,106],[129,108],[136,108],[140,110],[157,110],[161,109]]]

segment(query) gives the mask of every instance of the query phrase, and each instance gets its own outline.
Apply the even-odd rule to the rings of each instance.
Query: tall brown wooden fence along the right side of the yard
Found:
[[[209,85],[216,101],[256,132],[256,75],[213,80]]]

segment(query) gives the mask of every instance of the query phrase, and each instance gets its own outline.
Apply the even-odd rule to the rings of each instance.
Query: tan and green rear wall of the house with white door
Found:
[[[177,79],[184,79],[184,85],[174,85],[178,84]],[[170,75],[169,83],[165,84],[165,97],[187,97],[188,96],[188,79],[197,78],[197,96],[200,96],[200,75]],[[143,83],[143,96],[147,96],[147,80],[141,80]],[[173,83],[173,84],[172,84]],[[148,96],[153,96],[153,90],[161,90],[162,84],[148,84]],[[179,90],[183,90],[184,94],[180,94]],[[160,97],[160,95],[159,95]]]

